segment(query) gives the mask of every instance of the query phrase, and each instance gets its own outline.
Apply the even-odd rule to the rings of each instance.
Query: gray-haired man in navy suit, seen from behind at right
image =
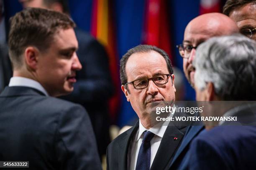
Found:
[[[256,42],[243,35],[214,37],[197,50],[196,98],[211,101],[202,116],[236,120],[218,121],[218,127],[204,122],[209,131],[192,142],[189,169],[256,169]]]

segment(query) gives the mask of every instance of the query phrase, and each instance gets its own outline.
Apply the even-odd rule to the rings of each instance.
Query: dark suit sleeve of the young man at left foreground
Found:
[[[101,170],[95,136],[87,112],[80,105],[64,110],[55,135],[61,170]]]

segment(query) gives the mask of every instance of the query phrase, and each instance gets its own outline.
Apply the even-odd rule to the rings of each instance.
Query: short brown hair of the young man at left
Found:
[[[20,55],[29,45],[47,50],[60,29],[74,28],[68,15],[41,8],[27,8],[10,18],[9,55],[13,67],[20,67]]]

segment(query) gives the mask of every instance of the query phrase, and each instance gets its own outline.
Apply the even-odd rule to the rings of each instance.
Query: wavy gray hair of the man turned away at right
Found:
[[[199,45],[193,65],[195,86],[214,85],[222,100],[256,99],[256,42],[243,35],[213,37]]]

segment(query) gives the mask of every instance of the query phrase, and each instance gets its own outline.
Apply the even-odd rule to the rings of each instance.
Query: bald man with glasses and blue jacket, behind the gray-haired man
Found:
[[[183,58],[184,74],[193,88],[195,86],[195,67],[193,67],[192,62],[195,59],[197,46],[210,37],[230,35],[237,32],[236,23],[220,13],[200,15],[189,22],[184,32],[183,43],[178,45],[178,48]],[[189,145],[203,129],[203,125],[198,125],[198,123],[194,125],[194,122],[187,128],[184,140],[174,156],[170,169],[187,169],[190,159],[188,154]]]

